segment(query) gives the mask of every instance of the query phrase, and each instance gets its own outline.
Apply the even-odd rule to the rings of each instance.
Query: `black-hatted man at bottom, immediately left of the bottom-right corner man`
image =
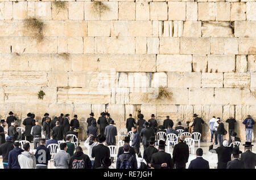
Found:
[[[241,161],[240,154],[242,151],[239,150],[239,147],[234,147],[232,151],[233,160],[228,162],[226,169],[245,169],[245,164]]]

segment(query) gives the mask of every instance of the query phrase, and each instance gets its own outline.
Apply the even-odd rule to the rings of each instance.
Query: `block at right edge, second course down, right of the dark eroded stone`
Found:
[[[256,37],[256,22],[235,21],[235,37]]]

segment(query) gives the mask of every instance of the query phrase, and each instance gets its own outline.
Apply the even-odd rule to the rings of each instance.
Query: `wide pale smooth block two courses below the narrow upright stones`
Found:
[[[191,72],[192,55],[158,55],[156,71]]]

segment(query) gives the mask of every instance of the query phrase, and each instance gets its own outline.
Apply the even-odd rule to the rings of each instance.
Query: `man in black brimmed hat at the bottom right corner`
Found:
[[[245,169],[255,169],[256,154],[252,152],[253,144],[245,142],[243,146],[245,147],[245,152],[241,154],[241,161],[245,164]]]

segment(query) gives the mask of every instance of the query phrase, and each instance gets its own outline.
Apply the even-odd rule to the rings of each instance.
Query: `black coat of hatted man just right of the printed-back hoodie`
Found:
[[[98,144],[98,145],[94,146],[92,149],[92,157],[95,157],[93,169],[99,168],[102,165],[101,158],[102,157],[106,157],[106,158],[110,157],[110,150],[105,145]]]

